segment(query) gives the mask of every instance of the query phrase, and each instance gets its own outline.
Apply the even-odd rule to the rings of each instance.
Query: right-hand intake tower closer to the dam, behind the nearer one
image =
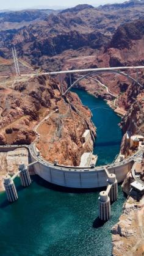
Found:
[[[118,182],[115,174],[109,174],[107,183],[108,185],[111,185],[111,189],[109,191],[110,202],[115,202],[118,197]]]

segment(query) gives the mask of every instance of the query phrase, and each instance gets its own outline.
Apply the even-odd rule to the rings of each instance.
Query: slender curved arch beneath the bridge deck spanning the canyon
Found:
[[[71,88],[76,86],[77,82],[87,78],[88,76],[91,76],[93,74],[99,74],[99,73],[117,73],[118,75],[122,75],[122,76],[125,76],[126,78],[129,78],[132,82],[136,82],[140,87],[143,88],[142,84],[140,84],[137,80],[132,78],[132,76],[129,76],[128,74],[123,73],[121,71],[118,71],[118,70],[95,70],[90,73],[87,73],[84,76],[81,76],[81,78],[78,78],[75,82],[73,82],[73,84],[70,85],[70,87],[68,87],[68,89],[63,93],[63,95],[66,95],[66,93],[68,93],[71,90]]]

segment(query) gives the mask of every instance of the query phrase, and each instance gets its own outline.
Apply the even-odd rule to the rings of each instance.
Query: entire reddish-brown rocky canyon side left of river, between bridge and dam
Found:
[[[59,82],[53,78],[17,81],[0,86],[0,144],[31,144],[36,137],[34,127],[51,114],[38,128],[37,147],[48,161],[77,166],[84,152],[93,151],[96,135],[91,112],[82,106],[75,93],[62,97]],[[85,130],[92,134],[92,144],[82,146]]]

